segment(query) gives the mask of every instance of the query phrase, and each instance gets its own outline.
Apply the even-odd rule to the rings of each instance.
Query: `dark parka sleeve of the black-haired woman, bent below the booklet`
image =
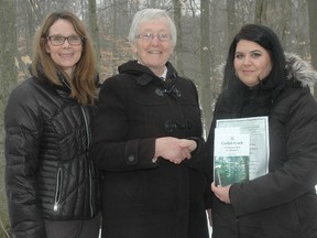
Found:
[[[270,136],[270,140],[274,140],[270,143],[272,149],[276,142],[281,141],[278,137],[284,138],[285,144],[278,143],[277,145],[278,150],[285,149],[286,152],[275,154],[285,155],[283,158],[270,156],[269,174],[242,184],[233,184],[230,188],[230,201],[237,216],[286,204],[303,194],[315,191],[317,184],[317,105],[309,94],[302,95],[293,102],[288,110],[288,120],[285,125],[277,126],[283,127],[284,132],[280,129],[280,134],[274,133],[275,138]],[[273,121],[273,123],[278,123],[275,119],[270,118],[270,120],[271,126]]]

